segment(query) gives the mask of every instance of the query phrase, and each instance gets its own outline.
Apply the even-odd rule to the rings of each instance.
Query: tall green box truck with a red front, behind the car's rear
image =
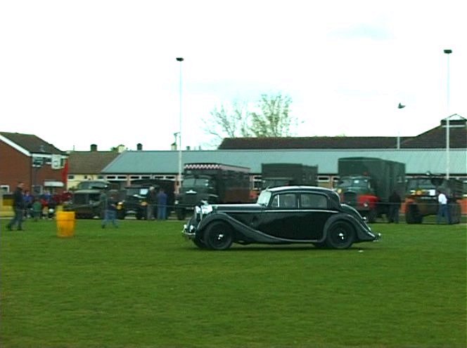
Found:
[[[338,194],[369,222],[388,216],[392,192],[401,199],[405,190],[405,164],[373,157],[338,159]]]

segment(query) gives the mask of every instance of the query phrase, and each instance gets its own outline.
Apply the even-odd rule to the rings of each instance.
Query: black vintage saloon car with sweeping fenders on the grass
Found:
[[[183,234],[199,248],[214,250],[232,243],[345,249],[380,237],[357,210],[340,203],[336,192],[306,186],[264,189],[252,204],[197,206]]]

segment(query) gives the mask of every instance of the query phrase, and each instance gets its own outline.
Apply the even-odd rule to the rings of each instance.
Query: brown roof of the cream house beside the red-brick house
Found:
[[[68,156],[68,173],[93,174],[101,173],[117,156],[115,151],[72,151]]]

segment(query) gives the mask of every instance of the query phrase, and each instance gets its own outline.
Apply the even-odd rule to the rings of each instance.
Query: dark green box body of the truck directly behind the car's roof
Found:
[[[262,163],[262,189],[267,187],[306,185],[316,186],[318,166],[302,163]]]

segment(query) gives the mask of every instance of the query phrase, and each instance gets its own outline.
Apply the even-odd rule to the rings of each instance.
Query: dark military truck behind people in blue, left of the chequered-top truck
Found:
[[[162,180],[162,179],[141,179],[132,180],[130,185],[124,188],[124,197],[117,205],[117,217],[124,219],[127,215],[134,215],[137,220],[146,219],[148,213],[146,202],[146,196],[149,191],[149,187],[153,186],[155,192],[159,192],[159,189],[164,189],[167,194],[167,213],[169,217],[172,209],[174,208],[174,180]],[[157,207],[154,207],[154,217],[157,217]]]

